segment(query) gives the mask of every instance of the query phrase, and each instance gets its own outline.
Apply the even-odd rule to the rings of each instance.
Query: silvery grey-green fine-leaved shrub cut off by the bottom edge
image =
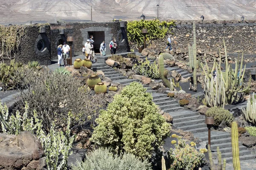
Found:
[[[86,154],[84,162],[77,161],[72,170],[151,170],[151,166],[147,160],[142,162],[130,153],[119,157],[108,149],[99,148]]]

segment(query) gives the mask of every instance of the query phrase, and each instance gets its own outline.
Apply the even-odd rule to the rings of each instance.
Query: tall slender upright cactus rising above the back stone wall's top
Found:
[[[198,68],[197,59],[196,59],[196,34],[195,34],[195,21],[193,21],[193,45],[192,47],[188,44],[189,49],[189,66],[193,71],[193,81],[190,81],[189,90],[197,91],[197,77],[196,71]],[[192,85],[193,82],[193,85]]]

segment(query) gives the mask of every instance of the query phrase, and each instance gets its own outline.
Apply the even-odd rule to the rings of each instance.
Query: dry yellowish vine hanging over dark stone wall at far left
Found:
[[[26,27],[0,25],[0,61],[15,58],[22,44],[21,38],[26,34]]]

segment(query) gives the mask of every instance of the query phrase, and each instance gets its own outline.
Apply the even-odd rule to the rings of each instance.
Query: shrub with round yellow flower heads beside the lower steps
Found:
[[[170,170],[195,170],[204,163],[204,153],[198,152],[195,147],[189,146],[186,142],[177,137],[178,144],[175,149],[170,150],[171,168]]]

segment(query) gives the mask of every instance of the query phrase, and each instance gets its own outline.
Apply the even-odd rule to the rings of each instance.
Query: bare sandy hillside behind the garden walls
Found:
[[[139,19],[143,13],[150,19],[157,17],[159,4],[160,19],[236,20],[242,15],[255,19],[256,0],[0,0],[0,23],[27,22],[58,19],[93,20]]]

